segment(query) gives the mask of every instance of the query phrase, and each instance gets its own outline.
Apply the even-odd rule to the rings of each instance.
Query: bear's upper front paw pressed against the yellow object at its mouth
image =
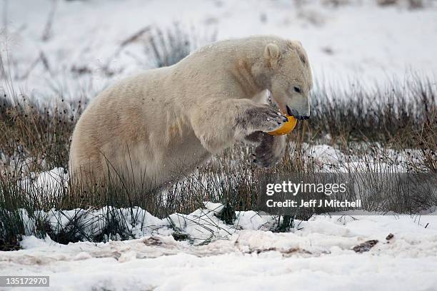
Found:
[[[288,121],[280,111],[268,105],[249,108],[243,118],[247,129],[263,132],[275,131]]]

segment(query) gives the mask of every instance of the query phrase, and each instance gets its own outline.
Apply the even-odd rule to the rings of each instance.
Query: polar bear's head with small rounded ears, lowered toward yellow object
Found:
[[[258,73],[262,86],[271,91],[281,111],[298,119],[309,118],[309,93],[313,80],[308,56],[301,43],[266,44],[261,60],[252,72]]]

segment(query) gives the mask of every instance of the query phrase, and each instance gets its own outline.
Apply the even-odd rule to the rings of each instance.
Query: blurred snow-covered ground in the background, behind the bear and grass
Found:
[[[384,84],[411,75],[435,80],[435,2],[413,10],[328,2],[335,1],[5,0],[1,53],[15,85],[41,98],[93,97],[114,79],[150,68],[144,53],[149,32],[121,44],[142,29],[175,22],[200,36],[216,31],[218,40],[253,34],[298,39],[316,83]]]

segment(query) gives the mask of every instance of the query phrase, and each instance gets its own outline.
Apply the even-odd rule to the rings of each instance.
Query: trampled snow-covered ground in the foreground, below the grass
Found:
[[[222,234],[207,245],[164,234],[69,245],[26,237],[24,250],[1,253],[0,273],[49,275],[50,290],[437,289],[436,215],[319,215],[271,233],[269,216],[236,214],[235,225],[208,209],[179,217],[190,235]],[[353,250],[368,240],[378,242]]]

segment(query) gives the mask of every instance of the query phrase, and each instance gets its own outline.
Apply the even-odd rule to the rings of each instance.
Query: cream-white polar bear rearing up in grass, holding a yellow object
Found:
[[[255,143],[253,163],[281,159],[270,136],[285,113],[309,117],[313,87],[301,43],[276,36],[218,41],[173,66],[119,81],[94,98],[74,128],[73,181],[112,176],[156,187],[186,175],[236,141]],[[271,93],[276,105],[268,105]]]

